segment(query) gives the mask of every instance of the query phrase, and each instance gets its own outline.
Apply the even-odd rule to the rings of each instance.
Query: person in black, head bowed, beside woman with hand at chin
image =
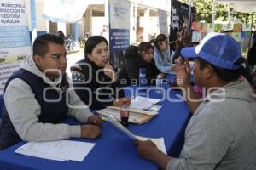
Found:
[[[153,84],[153,80],[160,74],[154,63],[153,53],[154,48],[149,42],[141,42],[138,47],[130,46],[125,52],[125,64],[119,74],[121,84],[124,86],[138,85],[140,68],[147,69],[148,85]]]

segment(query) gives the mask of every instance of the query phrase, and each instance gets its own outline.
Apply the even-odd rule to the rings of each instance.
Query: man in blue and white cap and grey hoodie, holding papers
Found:
[[[150,141],[137,140],[139,154],[162,169],[255,169],[256,96],[240,79],[243,59],[236,40],[209,33],[197,47],[183,48],[182,55],[194,58],[195,82],[207,96],[189,120],[179,158],[166,156]],[[187,68],[177,68],[183,87],[189,87]]]

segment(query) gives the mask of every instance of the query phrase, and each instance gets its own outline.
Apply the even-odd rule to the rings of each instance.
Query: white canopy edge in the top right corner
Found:
[[[216,3],[233,3],[236,11],[256,12],[256,0],[216,0]]]

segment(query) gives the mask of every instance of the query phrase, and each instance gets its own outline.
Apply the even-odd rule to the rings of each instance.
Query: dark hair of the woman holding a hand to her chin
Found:
[[[108,45],[108,41],[105,37],[102,36],[91,36],[85,42],[84,56],[87,57],[87,54],[91,54],[92,50],[101,42],[105,42]]]

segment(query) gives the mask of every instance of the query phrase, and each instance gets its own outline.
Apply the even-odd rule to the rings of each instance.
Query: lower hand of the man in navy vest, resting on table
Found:
[[[81,125],[81,138],[96,139],[101,135],[100,127],[96,125]]]

